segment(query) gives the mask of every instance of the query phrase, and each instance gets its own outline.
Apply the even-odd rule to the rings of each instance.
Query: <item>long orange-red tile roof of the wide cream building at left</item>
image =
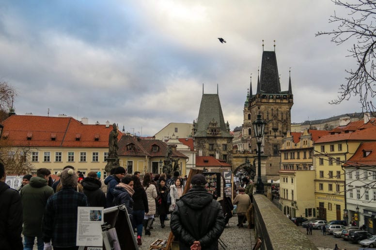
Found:
[[[106,128],[106,125],[82,124],[71,117],[13,115],[2,125],[1,140],[12,146],[31,147],[108,147],[112,130],[112,125]],[[118,138],[121,136],[119,131]]]

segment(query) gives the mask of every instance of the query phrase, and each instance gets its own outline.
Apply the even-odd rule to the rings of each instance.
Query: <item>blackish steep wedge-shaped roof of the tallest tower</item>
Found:
[[[257,87],[258,94],[280,94],[281,92],[277,57],[274,51],[263,51],[260,83]]]

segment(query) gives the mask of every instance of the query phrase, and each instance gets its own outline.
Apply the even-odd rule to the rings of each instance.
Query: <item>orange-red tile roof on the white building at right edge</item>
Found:
[[[369,154],[367,152],[369,152]],[[344,165],[376,166],[376,142],[361,143],[355,154],[350,159],[348,159],[348,161]]]

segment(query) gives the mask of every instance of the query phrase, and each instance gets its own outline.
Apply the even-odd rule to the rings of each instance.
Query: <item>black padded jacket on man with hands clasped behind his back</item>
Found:
[[[190,250],[196,240],[202,250],[218,250],[225,227],[222,206],[204,187],[194,186],[176,203],[170,226],[179,239],[180,250]]]

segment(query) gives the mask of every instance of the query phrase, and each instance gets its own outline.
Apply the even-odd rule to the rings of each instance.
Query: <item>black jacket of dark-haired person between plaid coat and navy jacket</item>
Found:
[[[100,180],[86,177],[81,181],[83,193],[86,195],[89,206],[103,206],[106,207],[106,195],[100,189],[102,183]]]

